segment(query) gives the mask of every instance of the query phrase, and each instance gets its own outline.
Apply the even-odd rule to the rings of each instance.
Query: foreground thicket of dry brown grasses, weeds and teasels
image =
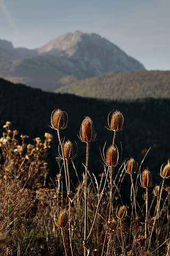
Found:
[[[161,167],[162,181],[155,186],[143,163],[138,165],[133,158],[123,163],[121,149],[116,146],[118,133],[123,129],[123,115],[113,113],[111,123],[108,118],[111,146],[101,154],[104,171],[97,177],[89,170],[90,145],[96,134],[92,120],[86,117],[80,129],[84,143],[81,176],[74,165],[77,152],[73,143],[62,138],[67,115],[61,110],[54,114],[52,127],[59,145],[53,179],[48,175],[46,162],[52,135],[46,133],[44,141],[36,138],[28,144],[26,136],[11,130],[10,122],[3,127],[0,253],[169,255],[169,162]],[[73,171],[77,181],[72,180]],[[129,202],[125,204],[121,193],[127,187]]]

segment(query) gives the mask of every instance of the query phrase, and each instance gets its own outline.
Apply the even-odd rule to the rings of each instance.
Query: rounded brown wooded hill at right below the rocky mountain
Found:
[[[129,71],[82,79],[56,90],[109,100],[170,98],[170,71]]]

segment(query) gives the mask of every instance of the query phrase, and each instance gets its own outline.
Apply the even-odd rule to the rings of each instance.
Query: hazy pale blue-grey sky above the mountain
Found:
[[[97,33],[147,69],[170,69],[170,0],[0,0],[0,38],[35,48],[75,30]]]

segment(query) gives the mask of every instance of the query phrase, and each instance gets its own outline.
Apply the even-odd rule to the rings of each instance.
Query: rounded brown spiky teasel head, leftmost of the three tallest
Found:
[[[66,113],[62,110],[55,109],[52,113],[51,123],[55,130],[65,129],[66,127]]]

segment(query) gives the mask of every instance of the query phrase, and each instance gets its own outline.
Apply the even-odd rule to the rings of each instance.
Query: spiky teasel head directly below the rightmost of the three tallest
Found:
[[[118,162],[118,150],[111,145],[106,151],[106,164],[108,166],[116,166]]]

